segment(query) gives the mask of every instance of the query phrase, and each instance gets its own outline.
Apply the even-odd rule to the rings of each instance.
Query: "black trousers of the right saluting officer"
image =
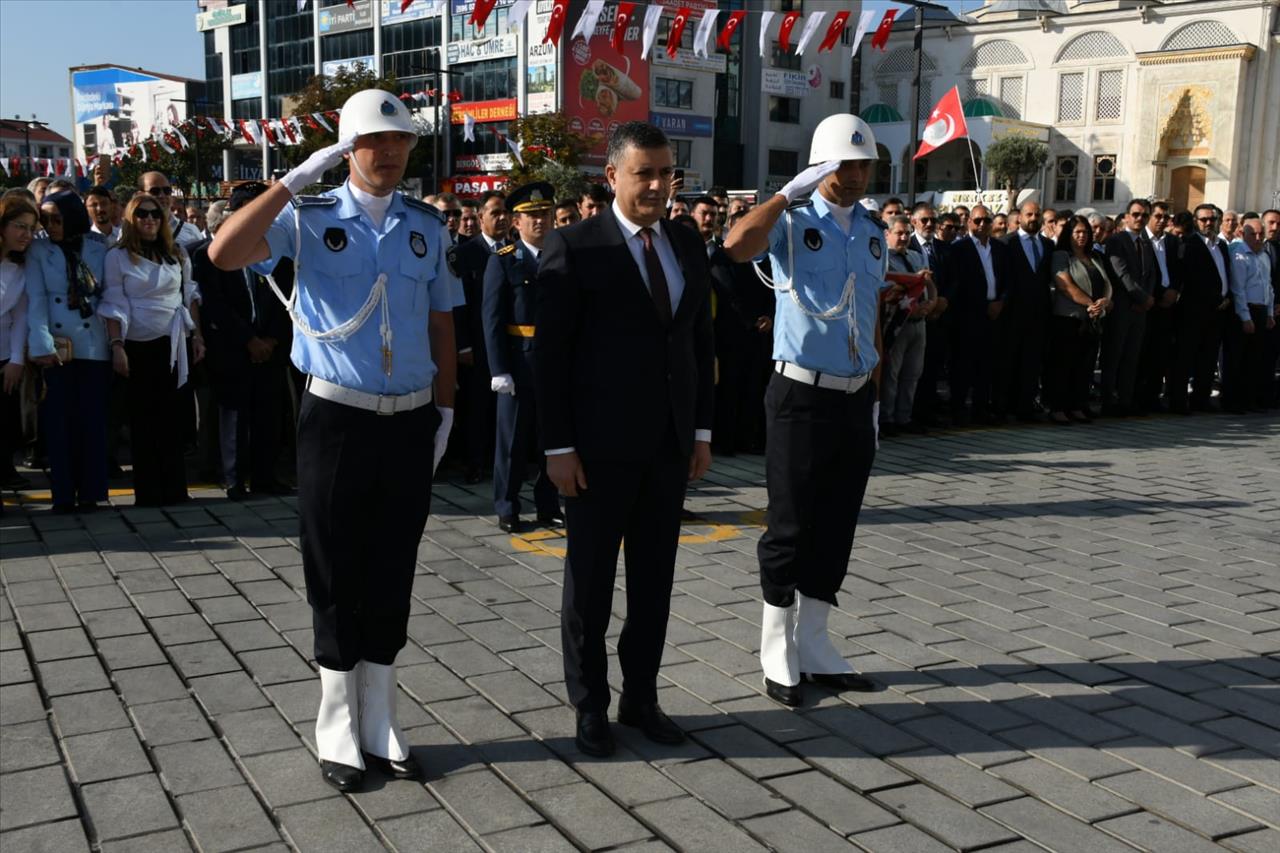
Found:
[[[764,601],[836,603],[876,460],[874,383],[854,394],[774,374],[764,393],[769,508],[756,556]]]

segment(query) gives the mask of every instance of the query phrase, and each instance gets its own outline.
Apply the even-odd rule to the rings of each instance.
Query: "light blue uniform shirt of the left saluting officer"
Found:
[[[315,332],[355,316],[378,275],[387,274],[392,374],[383,369],[380,305],[346,341],[315,341],[294,324],[293,364],[298,370],[374,394],[407,394],[430,387],[436,368],[428,311],[452,311],[465,301],[462,282],[449,266],[452,241],[435,209],[397,192],[378,228],[344,183],[321,196],[294,200],[271,223],[266,242],[271,257],[255,269],[269,273],[282,259],[294,260],[294,311]]]

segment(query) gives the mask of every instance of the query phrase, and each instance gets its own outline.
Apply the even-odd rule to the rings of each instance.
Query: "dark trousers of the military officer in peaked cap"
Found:
[[[498,437],[493,455],[493,507],[499,519],[520,515],[525,469],[530,456],[538,453],[534,352],[516,352],[512,347],[508,364],[513,370],[516,393],[498,394]],[[547,457],[538,456],[534,506],[538,515],[559,515],[559,492],[547,476]]]

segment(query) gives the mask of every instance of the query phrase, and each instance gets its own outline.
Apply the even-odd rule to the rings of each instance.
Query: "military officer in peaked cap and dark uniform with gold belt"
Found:
[[[538,259],[552,231],[556,188],[545,182],[526,183],[507,196],[507,210],[520,240],[490,255],[484,274],[481,323],[489,356],[492,388],[498,394],[498,441],[493,460],[493,505],[498,526],[520,529],[520,487],[525,465],[538,457],[534,507],[538,521],[563,525],[559,493],[547,478],[547,457],[538,453],[534,409],[534,313],[538,306]]]

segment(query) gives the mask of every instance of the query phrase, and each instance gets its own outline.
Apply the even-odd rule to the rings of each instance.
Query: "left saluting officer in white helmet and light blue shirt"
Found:
[[[347,792],[361,786],[366,762],[394,777],[421,775],[396,721],[393,663],[453,420],[452,311],[462,284],[439,211],[396,192],[417,142],[404,105],[390,92],[357,92],[338,138],[228,219],[209,256],[264,274],[293,259],[293,361],[307,374],[298,515],[320,665],[316,748],[325,781]],[[296,195],[344,156],[347,183]]]

